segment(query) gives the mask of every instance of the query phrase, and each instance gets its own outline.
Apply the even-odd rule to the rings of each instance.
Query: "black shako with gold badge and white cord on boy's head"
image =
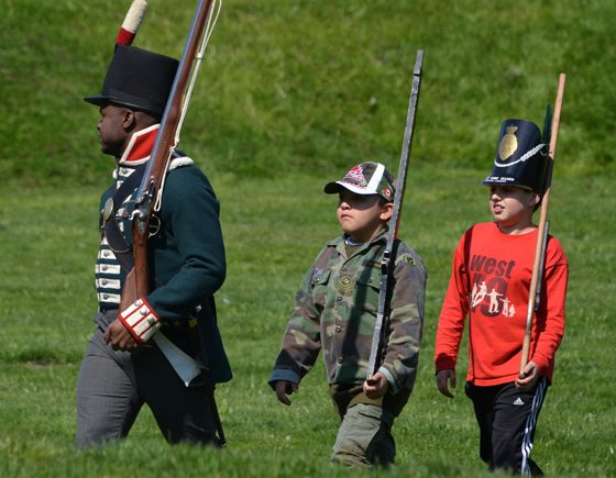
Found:
[[[501,126],[498,148],[492,176],[486,186],[517,186],[543,193],[548,146],[541,142],[541,131],[526,120],[506,120]]]

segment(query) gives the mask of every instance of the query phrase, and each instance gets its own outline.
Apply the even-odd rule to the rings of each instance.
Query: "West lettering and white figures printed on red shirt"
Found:
[[[486,316],[515,315],[516,308],[507,298],[507,280],[512,278],[515,265],[515,260],[498,260],[494,257],[473,255],[469,267],[469,273],[473,277],[470,299],[473,311],[480,307]]]

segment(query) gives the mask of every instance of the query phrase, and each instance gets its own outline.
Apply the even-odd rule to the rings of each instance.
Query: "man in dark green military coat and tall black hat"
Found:
[[[102,194],[96,263],[98,313],[77,386],[79,447],[123,438],[146,403],[169,443],[216,443],[211,382],[231,379],[213,293],[226,276],[215,192],[193,159],[174,152],[148,240],[152,292],[120,310],[131,268],[131,212],[178,63],[120,45],[100,95],[102,153],[116,159]]]

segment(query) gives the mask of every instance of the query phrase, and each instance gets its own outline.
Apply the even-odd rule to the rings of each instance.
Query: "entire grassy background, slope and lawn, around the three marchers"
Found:
[[[193,2],[148,3],[136,44],[179,55]],[[430,274],[420,373],[394,430],[397,467],[365,475],[484,474],[470,401],[433,383],[436,321],[459,236],[488,219],[479,182],[501,122],[541,123],[560,71],[550,216],[571,265],[568,329],[534,457],[553,476],[616,475],[609,0],[227,0],[183,146],[222,204],[229,275],[218,304],[235,378],[218,397],[230,447],[168,447],[144,410],[123,443],[76,452],[98,196],[112,166],[81,98],[100,89],[128,4],[0,0],[1,476],[363,475],[328,463],[338,422],[320,364],[290,408],[265,381],[295,290],[338,234],[322,185],[364,158],[397,169],[417,48],[425,75],[400,236]]]

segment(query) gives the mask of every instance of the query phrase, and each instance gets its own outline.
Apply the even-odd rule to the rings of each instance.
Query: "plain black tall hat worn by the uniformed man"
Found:
[[[177,59],[168,56],[118,45],[100,95],[84,100],[97,105],[111,102],[162,116],[178,65]]]

